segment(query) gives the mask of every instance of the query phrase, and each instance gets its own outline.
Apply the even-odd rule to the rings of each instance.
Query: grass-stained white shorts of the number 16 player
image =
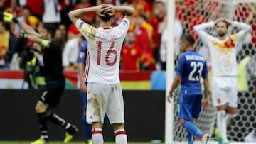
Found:
[[[87,84],[87,111],[88,123],[101,121],[104,117],[110,123],[124,123],[124,100],[121,84],[100,84],[88,82]]]

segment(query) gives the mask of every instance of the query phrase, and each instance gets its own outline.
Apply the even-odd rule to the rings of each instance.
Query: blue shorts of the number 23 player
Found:
[[[180,94],[178,104],[178,118],[184,118],[187,121],[192,121],[193,119],[197,119],[199,117],[202,106],[202,95]]]

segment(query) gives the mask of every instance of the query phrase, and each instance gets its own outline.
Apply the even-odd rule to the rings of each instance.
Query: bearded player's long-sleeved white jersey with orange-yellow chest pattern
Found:
[[[203,43],[210,49],[210,59],[213,76],[233,76],[237,75],[236,49],[241,38],[250,31],[250,25],[246,23],[233,22],[233,26],[240,28],[238,33],[228,36],[225,40],[206,33],[206,28],[213,28],[214,22],[202,23],[194,26]]]

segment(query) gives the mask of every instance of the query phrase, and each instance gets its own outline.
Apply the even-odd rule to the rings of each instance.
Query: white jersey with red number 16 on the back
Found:
[[[76,27],[88,42],[84,74],[86,82],[120,83],[120,52],[129,24],[127,18],[123,18],[121,23],[113,28],[95,28],[80,19],[76,22]]]

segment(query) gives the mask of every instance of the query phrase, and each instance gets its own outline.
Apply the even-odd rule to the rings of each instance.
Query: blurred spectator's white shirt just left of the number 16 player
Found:
[[[63,49],[63,67],[68,67],[70,63],[77,65],[79,51],[79,37],[72,38],[65,43]]]

